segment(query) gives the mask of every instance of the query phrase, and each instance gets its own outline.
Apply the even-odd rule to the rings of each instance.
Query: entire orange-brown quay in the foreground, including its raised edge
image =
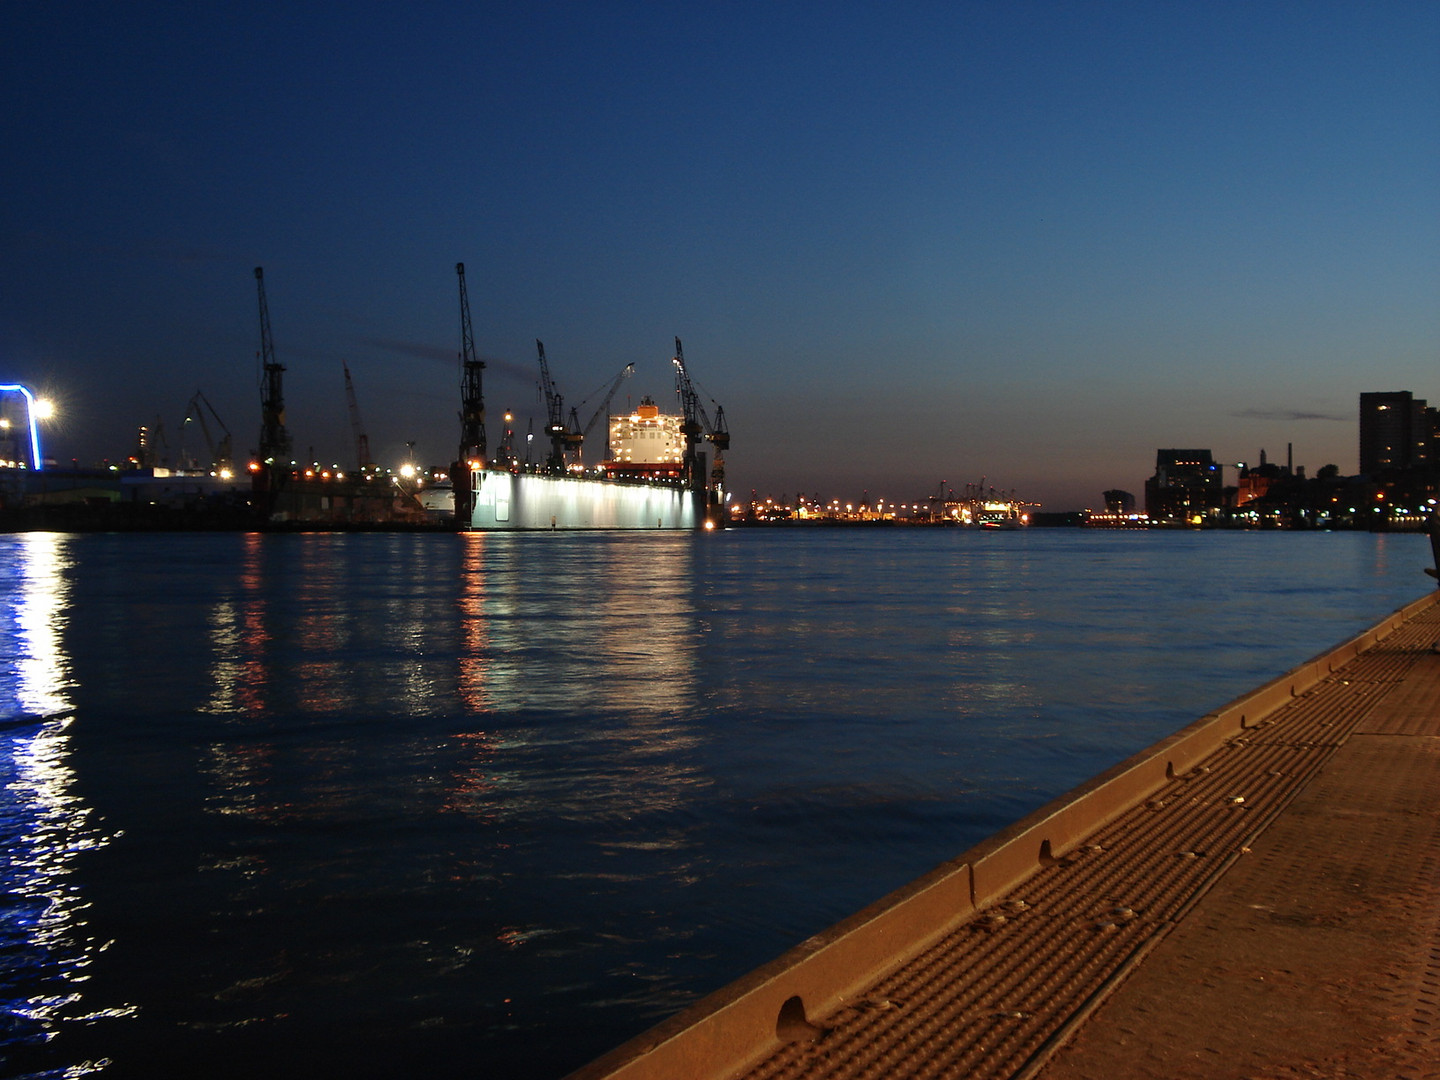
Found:
[[[572,1080],[1440,1076],[1437,596]]]

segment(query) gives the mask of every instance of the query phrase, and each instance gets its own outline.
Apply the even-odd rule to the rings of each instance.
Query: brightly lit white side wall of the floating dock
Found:
[[[501,469],[471,472],[468,528],[698,528],[696,492],[672,484],[616,484]]]

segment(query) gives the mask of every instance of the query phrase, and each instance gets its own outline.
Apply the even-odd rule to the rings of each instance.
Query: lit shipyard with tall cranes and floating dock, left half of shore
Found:
[[[160,464],[158,429],[141,426],[125,467],[60,469],[40,454],[39,420],[48,415],[29,387],[0,387],[20,402],[16,418],[0,428],[0,528],[703,528],[723,527],[729,492],[724,452],[730,446],[724,408],[701,399],[684,348],[675,338],[671,357],[680,412],[661,413],[645,397],[629,415],[609,415],[626,364],[588,423],[579,406],[564,409],[537,340],[539,386],[544,395],[541,456],[534,431],[523,449],[503,418],[491,446],[487,433],[485,361],[475,351],[465,264],[459,282],[459,439],[448,467],[396,471],[380,468],[370,442],[348,364],[343,366],[346,402],[354,433],[354,464],[304,465],[294,456],[287,423],[285,366],[276,360],[265,294],[264,268],[255,268],[259,311],[261,426],[255,451],[235,454],[235,436],[203,392],[186,409],[203,436],[204,458],[186,455],[179,467]],[[582,406],[585,403],[582,402]],[[603,418],[603,451],[586,441]],[[212,428],[213,425],[213,428]],[[531,425],[533,428],[533,425]],[[708,446],[710,449],[704,449]],[[186,459],[187,458],[187,459]]]

